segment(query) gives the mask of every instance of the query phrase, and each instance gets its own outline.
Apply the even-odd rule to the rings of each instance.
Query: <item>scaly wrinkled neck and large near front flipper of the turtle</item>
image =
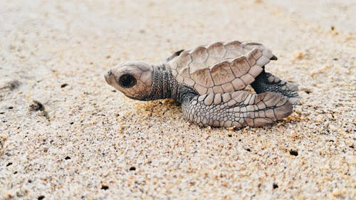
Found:
[[[184,117],[201,126],[259,127],[287,117],[293,110],[286,97],[276,93],[254,95],[246,91],[199,95],[172,78],[167,65],[155,66],[150,93],[142,100],[173,98],[182,103]]]

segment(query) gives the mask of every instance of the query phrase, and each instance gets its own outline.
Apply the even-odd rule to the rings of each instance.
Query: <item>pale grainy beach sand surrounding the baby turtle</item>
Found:
[[[355,1],[0,1],[0,199],[355,199]],[[301,105],[199,128],[103,78],[215,41],[257,41]],[[16,82],[17,81],[17,82]],[[33,100],[45,110],[31,109]]]

